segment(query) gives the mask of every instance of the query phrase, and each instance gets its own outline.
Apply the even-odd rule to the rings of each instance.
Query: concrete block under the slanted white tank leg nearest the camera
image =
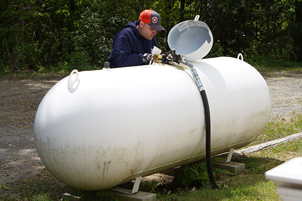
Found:
[[[156,194],[150,192],[138,191],[134,194],[112,191],[121,201],[156,201]]]

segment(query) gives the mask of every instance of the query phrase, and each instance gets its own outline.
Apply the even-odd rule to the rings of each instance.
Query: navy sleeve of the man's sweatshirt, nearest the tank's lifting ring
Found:
[[[131,37],[122,35],[114,41],[113,59],[119,67],[142,65],[142,54],[131,53],[133,48]]]

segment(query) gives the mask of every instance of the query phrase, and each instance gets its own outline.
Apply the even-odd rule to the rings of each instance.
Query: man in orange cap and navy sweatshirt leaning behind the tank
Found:
[[[142,11],[138,21],[129,22],[113,37],[110,68],[148,64],[147,55],[158,46],[155,35],[161,30],[165,29],[160,15],[153,10]]]

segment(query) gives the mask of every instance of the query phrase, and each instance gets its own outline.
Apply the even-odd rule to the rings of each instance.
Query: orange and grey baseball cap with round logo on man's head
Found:
[[[165,30],[161,26],[161,16],[156,11],[153,10],[144,10],[139,15],[139,20],[144,23],[147,23],[152,29],[156,31]]]

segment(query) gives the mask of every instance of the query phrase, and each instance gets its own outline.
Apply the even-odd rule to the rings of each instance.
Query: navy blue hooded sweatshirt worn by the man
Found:
[[[113,46],[108,61],[110,68],[145,65],[144,53],[151,53],[153,46],[158,46],[156,38],[145,39],[136,28],[136,21],[129,22],[126,28],[113,37]]]

